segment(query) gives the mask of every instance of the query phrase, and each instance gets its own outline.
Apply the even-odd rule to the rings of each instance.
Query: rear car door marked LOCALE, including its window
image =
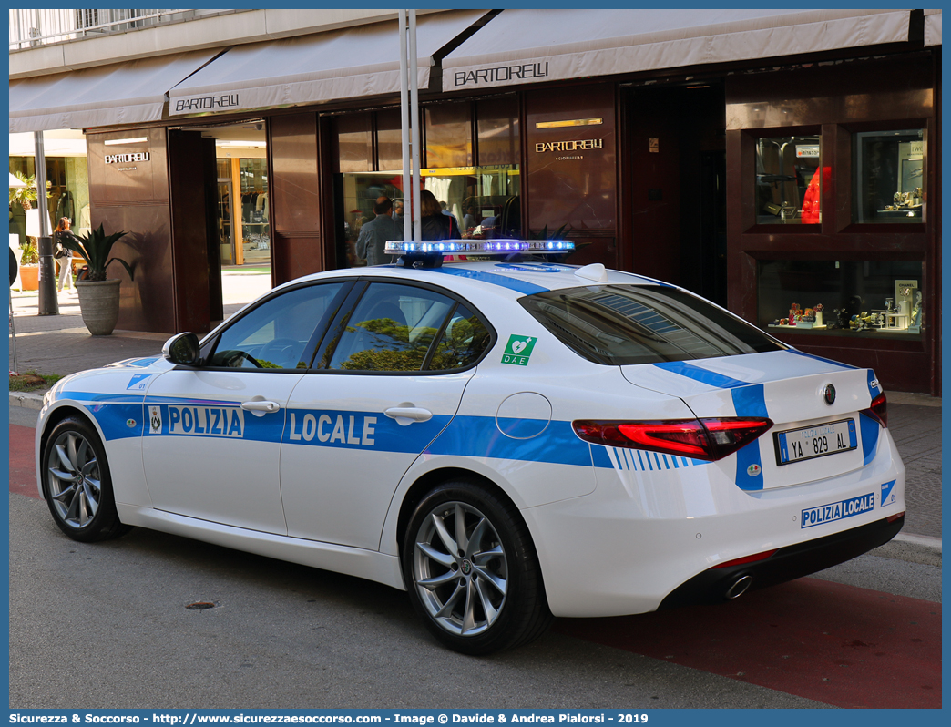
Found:
[[[281,499],[288,535],[376,550],[400,478],[495,334],[445,291],[361,285],[288,403]]]

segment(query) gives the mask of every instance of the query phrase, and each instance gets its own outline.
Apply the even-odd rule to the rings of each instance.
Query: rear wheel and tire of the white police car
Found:
[[[552,622],[528,528],[511,503],[476,482],[446,482],[419,502],[402,568],[419,617],[461,654],[521,646]]]

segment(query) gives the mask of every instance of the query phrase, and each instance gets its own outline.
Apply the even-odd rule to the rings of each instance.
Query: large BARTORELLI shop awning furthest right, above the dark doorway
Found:
[[[908,40],[910,10],[503,10],[442,62],[444,91]]]

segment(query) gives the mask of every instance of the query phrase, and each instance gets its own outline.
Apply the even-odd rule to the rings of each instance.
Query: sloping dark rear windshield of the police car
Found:
[[[519,301],[579,356],[631,365],[783,350],[763,331],[686,290],[599,285]]]

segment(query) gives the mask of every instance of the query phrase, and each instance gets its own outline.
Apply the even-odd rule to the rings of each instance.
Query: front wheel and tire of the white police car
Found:
[[[56,424],[41,467],[49,512],[72,540],[109,540],[132,529],[119,521],[106,448],[88,422],[69,417]]]

